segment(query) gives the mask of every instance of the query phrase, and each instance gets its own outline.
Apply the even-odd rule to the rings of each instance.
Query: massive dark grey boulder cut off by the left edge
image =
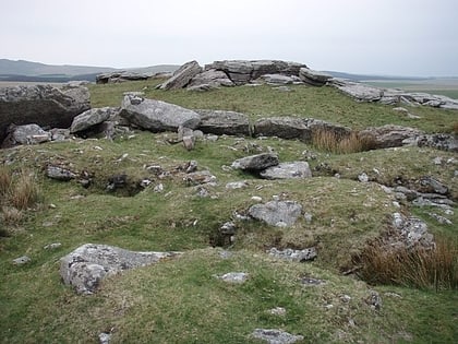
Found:
[[[83,86],[0,88],[0,142],[4,140],[7,129],[12,123],[69,128],[76,115],[89,108],[89,91]]]

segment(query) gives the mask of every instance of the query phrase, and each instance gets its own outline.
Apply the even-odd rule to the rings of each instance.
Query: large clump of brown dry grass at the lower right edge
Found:
[[[367,244],[353,259],[359,276],[371,284],[417,288],[458,289],[458,242],[438,240],[433,249],[387,248],[382,240]]]

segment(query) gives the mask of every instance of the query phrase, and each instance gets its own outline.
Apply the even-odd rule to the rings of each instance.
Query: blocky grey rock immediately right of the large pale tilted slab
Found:
[[[246,115],[225,110],[195,110],[201,116],[201,129],[204,133],[217,135],[250,135],[250,119]]]

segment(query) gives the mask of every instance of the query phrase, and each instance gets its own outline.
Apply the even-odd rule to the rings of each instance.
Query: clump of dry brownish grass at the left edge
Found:
[[[0,166],[0,220],[4,226],[15,226],[23,217],[23,211],[34,206],[39,200],[39,188],[35,174],[25,169],[17,175],[5,166]],[[3,228],[1,236],[8,232]]]

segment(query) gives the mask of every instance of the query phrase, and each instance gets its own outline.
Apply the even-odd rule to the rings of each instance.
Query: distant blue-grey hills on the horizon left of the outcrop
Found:
[[[33,81],[33,82],[68,82],[71,80],[95,81],[99,73],[114,72],[122,70],[135,71],[138,73],[156,74],[160,72],[173,72],[179,66],[160,64],[144,68],[116,69],[112,67],[91,66],[53,66],[25,60],[0,59],[0,81]]]

